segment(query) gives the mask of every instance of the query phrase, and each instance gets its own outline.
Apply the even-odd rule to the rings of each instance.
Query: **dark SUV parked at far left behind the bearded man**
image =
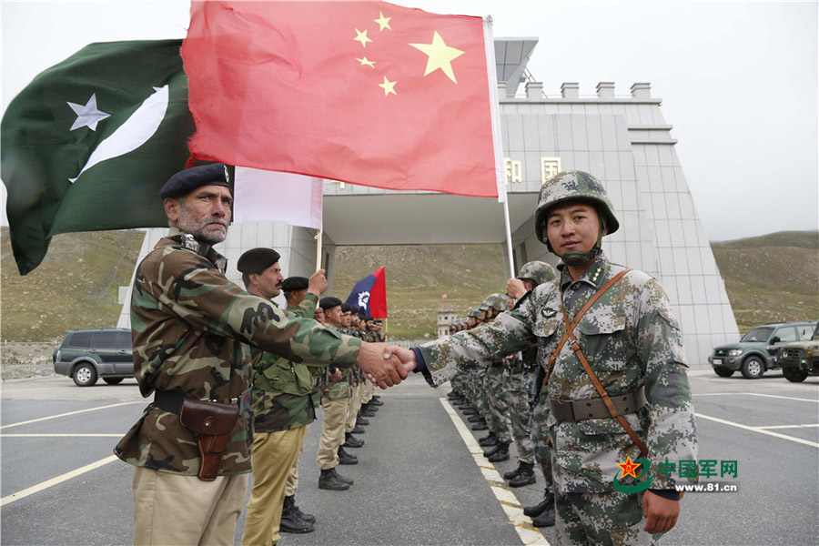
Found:
[[[123,379],[134,377],[131,330],[68,330],[52,359],[54,371],[73,378],[78,387],[90,387],[97,378],[116,385]]]

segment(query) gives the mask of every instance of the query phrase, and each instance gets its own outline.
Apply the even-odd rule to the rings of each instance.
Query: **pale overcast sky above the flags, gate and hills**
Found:
[[[819,228],[817,2],[400,1],[537,36],[547,96],[650,82],[711,240]],[[2,106],[99,41],[184,37],[187,2],[2,1]],[[2,191],[3,224],[5,187]]]

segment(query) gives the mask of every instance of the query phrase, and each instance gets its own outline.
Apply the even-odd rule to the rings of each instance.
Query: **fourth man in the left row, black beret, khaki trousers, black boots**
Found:
[[[319,306],[324,309],[324,319],[329,328],[337,331],[343,328],[339,298],[321,298]],[[316,464],[321,470],[319,489],[343,491],[349,490],[349,486],[353,484],[353,480],[345,478],[336,470],[339,464],[358,462],[358,459],[341,447],[349,396],[349,370],[329,368],[321,385],[321,439],[316,453]]]

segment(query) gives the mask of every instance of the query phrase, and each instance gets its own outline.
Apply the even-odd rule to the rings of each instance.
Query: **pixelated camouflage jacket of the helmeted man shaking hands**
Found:
[[[502,313],[492,324],[421,346],[425,376],[437,385],[450,379],[460,362],[486,367],[493,359],[534,342],[545,367],[565,332],[561,294],[572,319],[622,269],[603,255],[577,281],[561,268],[560,279],[541,284],[520,308]],[[586,312],[574,331],[612,397],[644,386],[649,404],[624,417],[648,448],[652,488],[672,489],[680,480],[672,473],[658,474],[657,463],[696,460],[697,437],[682,334],[660,283],[641,271],[627,273]],[[546,391],[551,399],[598,396],[568,342],[557,356]],[[621,475],[617,463],[627,456],[640,457],[637,446],[611,418],[561,422],[550,412],[547,426],[554,448],[554,480],[561,491],[613,490],[613,479]],[[629,485],[628,480],[632,478],[622,483]]]

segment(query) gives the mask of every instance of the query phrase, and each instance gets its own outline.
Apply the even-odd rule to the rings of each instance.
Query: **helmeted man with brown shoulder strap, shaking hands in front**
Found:
[[[570,171],[547,180],[535,227],[561,258],[557,284],[535,288],[491,325],[390,351],[437,385],[460,361],[487,366],[537,342],[550,402],[547,430],[537,433],[553,448],[558,542],[651,544],[680,514],[680,480],[667,461],[697,459],[679,323],[656,279],[602,253],[619,223],[597,178]],[[639,471],[651,481],[626,476],[629,459],[648,460]]]

